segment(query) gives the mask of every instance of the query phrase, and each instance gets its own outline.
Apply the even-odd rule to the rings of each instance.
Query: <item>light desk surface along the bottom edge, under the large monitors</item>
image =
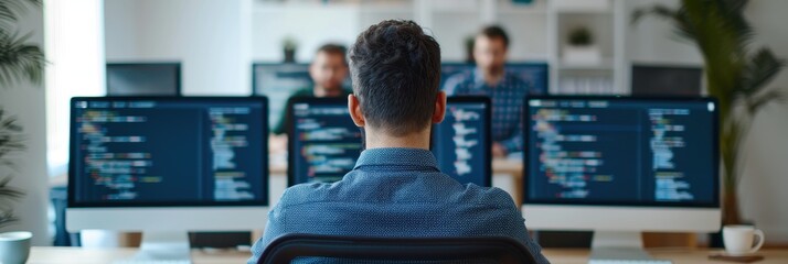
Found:
[[[44,263],[84,263],[98,264],[111,263],[114,260],[125,260],[134,256],[137,249],[79,249],[79,248],[51,248],[33,246],[30,254],[29,264]],[[704,250],[649,250],[654,258],[671,260],[674,264],[682,263],[731,263],[710,261],[709,251]],[[762,250],[759,254],[766,260],[756,262],[757,264],[788,263],[788,250]],[[544,255],[555,264],[562,263],[587,263],[587,250],[544,250]],[[201,263],[245,263],[248,260],[248,252],[216,251],[204,252],[193,251],[192,258],[195,264]]]

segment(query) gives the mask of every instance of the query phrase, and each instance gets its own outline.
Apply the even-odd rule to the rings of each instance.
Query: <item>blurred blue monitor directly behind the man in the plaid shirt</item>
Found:
[[[476,69],[476,64],[451,63],[440,64],[440,88],[445,89],[446,80],[458,74],[468,75]],[[525,82],[531,84],[529,95],[547,95],[550,92],[550,67],[547,63],[507,63],[507,73],[514,74]]]

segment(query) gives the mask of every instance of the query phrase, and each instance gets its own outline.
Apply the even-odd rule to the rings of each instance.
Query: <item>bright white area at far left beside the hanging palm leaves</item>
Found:
[[[44,2],[50,176],[68,173],[68,111],[75,96],[103,96],[103,0]]]

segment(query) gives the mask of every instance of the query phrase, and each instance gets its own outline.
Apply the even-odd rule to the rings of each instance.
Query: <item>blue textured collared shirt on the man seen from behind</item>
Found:
[[[461,185],[438,170],[422,148],[370,148],[353,170],[332,184],[300,184],[285,190],[268,212],[265,233],[252,248],[259,258],[287,233],[359,237],[503,235],[521,241],[539,263],[549,263],[528,235],[514,201],[499,188]]]

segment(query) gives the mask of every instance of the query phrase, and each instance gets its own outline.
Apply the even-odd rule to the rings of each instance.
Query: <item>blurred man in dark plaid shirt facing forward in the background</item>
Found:
[[[523,98],[529,84],[507,73],[509,36],[500,26],[482,29],[473,41],[476,69],[451,76],[444,90],[449,95],[489,96],[492,100],[492,155],[503,157],[523,148]]]

